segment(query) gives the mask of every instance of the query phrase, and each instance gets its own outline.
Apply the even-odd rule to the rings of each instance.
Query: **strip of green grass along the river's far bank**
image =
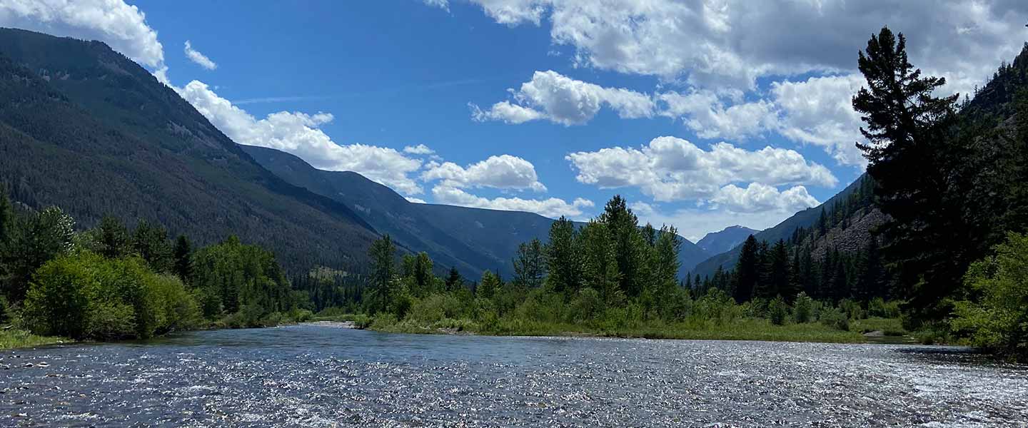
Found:
[[[372,329],[389,333],[454,334],[473,333],[488,336],[587,336],[608,338],[694,339],[768,342],[865,343],[858,332],[844,332],[820,323],[773,325],[766,319],[742,318],[724,323],[676,322],[640,323],[633,326],[604,327],[566,322],[541,322],[501,319],[481,325],[467,319],[443,319],[431,323],[410,319],[376,319]]]

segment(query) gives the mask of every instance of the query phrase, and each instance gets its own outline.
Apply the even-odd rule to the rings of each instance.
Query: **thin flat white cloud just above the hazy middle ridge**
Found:
[[[474,208],[536,212],[540,216],[553,219],[560,216],[581,216],[583,208],[593,206],[592,201],[582,198],[575,199],[572,203],[567,203],[563,199],[558,198],[522,199],[517,197],[498,197],[488,199],[472,195],[462,189],[446,186],[445,184],[434,187],[432,189],[432,196],[438,203],[470,206]]]

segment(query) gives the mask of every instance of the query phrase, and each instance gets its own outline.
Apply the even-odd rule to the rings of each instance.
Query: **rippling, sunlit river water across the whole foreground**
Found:
[[[0,354],[0,426],[161,425],[1024,427],[1028,367],[905,345],[325,325]]]

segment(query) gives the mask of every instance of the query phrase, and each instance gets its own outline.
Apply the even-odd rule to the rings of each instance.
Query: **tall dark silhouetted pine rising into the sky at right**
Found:
[[[964,204],[954,200],[966,193],[959,170],[969,158],[963,145],[950,144],[958,95],[933,96],[946,79],[922,77],[906,44],[888,28],[871,37],[857,63],[868,84],[852,102],[869,141],[857,147],[878,185],[878,205],[890,219],[881,228],[883,256],[907,286],[908,309],[921,319],[949,311],[944,299],[972,260],[966,237],[976,230],[961,218]]]

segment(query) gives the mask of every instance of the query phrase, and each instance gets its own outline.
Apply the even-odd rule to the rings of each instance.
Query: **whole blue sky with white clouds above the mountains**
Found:
[[[1023,0],[0,0],[0,26],[104,41],[236,143],[414,202],[586,220],[621,194],[693,241],[859,177],[882,26],[972,93],[1026,22]]]

